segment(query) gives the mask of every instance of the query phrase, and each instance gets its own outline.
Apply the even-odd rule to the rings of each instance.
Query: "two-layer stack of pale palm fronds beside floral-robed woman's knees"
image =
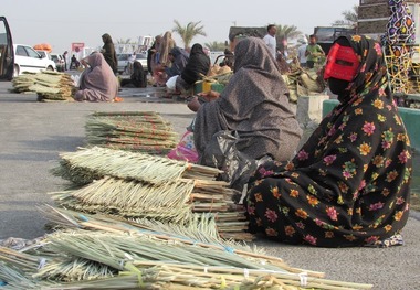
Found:
[[[218,169],[185,161],[105,148],[61,154],[55,175],[78,185],[51,193],[57,204],[84,213],[189,224],[195,214],[211,214],[222,238],[252,240],[244,233],[243,208],[233,203],[237,191],[216,181]],[[96,180],[95,182],[93,182]]]

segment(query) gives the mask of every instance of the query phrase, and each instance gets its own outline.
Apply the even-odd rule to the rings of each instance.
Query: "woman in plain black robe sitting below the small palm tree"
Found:
[[[193,84],[206,76],[210,69],[210,57],[202,50],[201,44],[196,43],[191,47],[189,61],[181,75],[177,78],[178,90],[188,90]]]

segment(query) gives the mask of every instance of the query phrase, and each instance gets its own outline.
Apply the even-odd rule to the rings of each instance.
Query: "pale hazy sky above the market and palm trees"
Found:
[[[1,0],[1,15],[8,19],[13,41],[34,45],[50,43],[62,53],[73,42],[86,46],[102,45],[101,35],[116,40],[136,40],[140,35],[162,34],[174,28],[174,20],[186,25],[201,21],[207,37],[193,43],[227,41],[229,28],[265,26],[269,23],[295,25],[305,34],[314,26],[328,26],[343,19],[358,0]],[[177,44],[182,46],[175,34]]]

